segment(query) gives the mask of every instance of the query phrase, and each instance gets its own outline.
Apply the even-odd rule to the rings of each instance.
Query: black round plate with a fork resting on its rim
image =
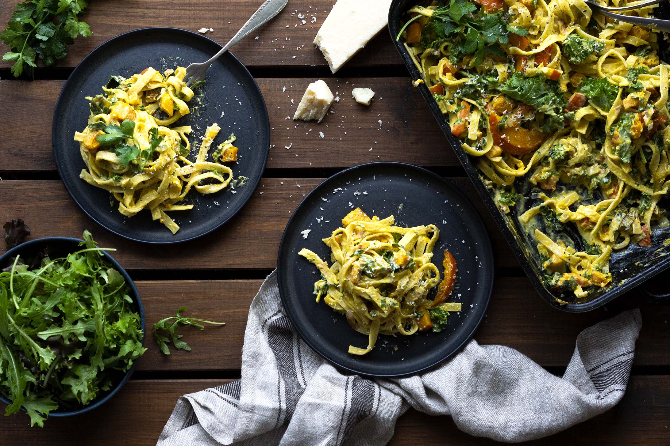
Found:
[[[88,101],[85,96],[102,92],[109,76],[128,78],[149,66],[163,72],[192,62],[204,62],[221,45],[203,35],[176,28],[145,28],[121,34],[94,49],[74,69],[56,103],[53,124],[53,144],[56,166],[63,183],[79,207],[97,223],[121,237],[147,243],[175,243],[200,237],[228,221],[251,197],[261,179],[270,146],[270,124],[265,101],[249,71],[230,52],[221,56],[207,72],[202,105],[196,98],[192,109],[176,125],[191,125],[190,134],[194,158],[200,147],[205,128],[216,122],[221,127],[215,143],[224,141],[235,132],[239,147],[239,162],[233,167],[235,177],[249,178],[237,193],[220,191],[211,195],[190,193],[190,211],[173,212],[170,216],[181,229],[172,235],[166,227],[151,220],[148,210],[134,217],[124,217],[117,205],[109,204],[109,193],[79,178],[84,168],[79,143],[74,132],[88,122]]]

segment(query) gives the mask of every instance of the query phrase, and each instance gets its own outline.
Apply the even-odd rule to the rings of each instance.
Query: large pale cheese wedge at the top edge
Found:
[[[391,0],[338,0],[314,43],[333,73],[375,37],[389,21]]]

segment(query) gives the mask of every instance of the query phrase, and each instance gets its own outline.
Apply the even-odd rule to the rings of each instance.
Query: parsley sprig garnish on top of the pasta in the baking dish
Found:
[[[451,41],[449,47],[451,58],[458,60],[462,55],[474,55],[475,64],[484,59],[484,52],[500,55],[497,43],[509,43],[509,34],[527,35],[524,27],[513,26],[505,21],[502,13],[488,14],[483,8],[468,0],[449,0],[438,9],[421,8],[423,14],[417,13],[405,23],[396,40],[400,39],[405,28],[424,15],[429,17],[435,37],[431,43]],[[427,43],[427,47],[434,47]]]

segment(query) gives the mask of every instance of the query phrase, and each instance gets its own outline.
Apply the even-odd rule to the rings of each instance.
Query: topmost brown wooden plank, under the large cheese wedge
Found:
[[[9,21],[15,3],[16,1],[0,3],[0,23],[3,25]],[[56,66],[72,68],[101,43],[143,27],[167,26],[189,31],[212,27],[214,32],[208,33],[207,37],[224,45],[261,3],[261,0],[184,0],[170,4],[170,13],[162,14],[157,11],[163,11],[165,3],[159,0],[115,0],[110,3],[92,1],[81,19],[90,25],[93,35],[86,39],[78,37],[74,45],[68,46],[68,55],[59,60]],[[334,3],[335,0],[290,0],[277,17],[235,45],[232,52],[243,64],[252,67],[328,68],[324,56],[313,42]],[[300,19],[298,14],[305,17]],[[302,20],[306,23],[302,23]],[[256,36],[258,39],[255,39]],[[8,49],[5,45],[0,45],[0,50],[4,52]],[[401,64],[389,31],[383,29],[346,66]],[[0,68],[9,66],[9,62],[0,62]]]

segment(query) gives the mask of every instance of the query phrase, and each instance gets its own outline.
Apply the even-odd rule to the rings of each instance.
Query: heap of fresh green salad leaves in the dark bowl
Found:
[[[5,415],[24,407],[44,426],[115,386],[142,356],[141,318],[130,288],[90,233],[82,249],[52,259],[15,257],[0,272],[0,395]],[[110,249],[113,251],[113,249]]]

